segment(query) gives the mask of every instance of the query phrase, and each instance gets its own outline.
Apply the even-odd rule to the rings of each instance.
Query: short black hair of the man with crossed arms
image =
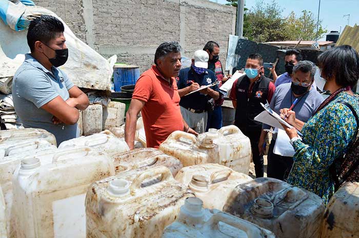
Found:
[[[41,15],[30,22],[27,32],[27,44],[31,52],[35,49],[35,42],[48,44],[58,33],[65,31],[64,24],[54,16]]]

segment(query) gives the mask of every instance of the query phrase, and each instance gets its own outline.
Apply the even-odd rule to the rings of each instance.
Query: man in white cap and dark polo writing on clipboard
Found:
[[[213,110],[213,101],[220,96],[217,85],[187,95],[217,80],[215,73],[207,70],[208,58],[206,51],[197,50],[194,52],[191,67],[179,71],[176,78],[182,116],[188,126],[198,133],[205,132],[207,111]]]

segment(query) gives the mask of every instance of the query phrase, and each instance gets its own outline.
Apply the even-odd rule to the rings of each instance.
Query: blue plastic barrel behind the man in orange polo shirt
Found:
[[[113,67],[113,84],[115,92],[121,92],[122,86],[136,84],[138,78],[138,66],[118,64]]]

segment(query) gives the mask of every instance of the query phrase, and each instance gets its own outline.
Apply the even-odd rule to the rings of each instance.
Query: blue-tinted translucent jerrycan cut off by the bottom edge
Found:
[[[188,197],[174,223],[166,227],[162,238],[274,238],[269,230],[216,209],[202,209],[202,201]]]

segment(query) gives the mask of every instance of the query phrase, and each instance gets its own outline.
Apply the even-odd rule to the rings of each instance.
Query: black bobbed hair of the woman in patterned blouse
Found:
[[[348,45],[333,47],[318,56],[324,78],[335,78],[337,85],[353,87],[359,78],[359,55]]]

